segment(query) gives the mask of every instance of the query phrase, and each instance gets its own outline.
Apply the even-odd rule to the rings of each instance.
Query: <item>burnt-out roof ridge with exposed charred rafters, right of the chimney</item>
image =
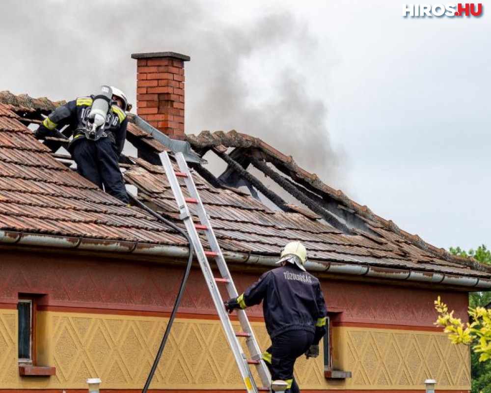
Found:
[[[483,268],[477,261],[451,255],[424,242],[418,235],[400,229],[392,221],[377,216],[367,206],[356,203],[342,191],[323,183],[315,173],[300,168],[292,156],[281,153],[259,138],[232,130],[228,133],[203,131],[197,136],[187,135],[187,140],[202,155],[212,150],[224,158],[229,164],[227,171],[237,168],[237,164],[244,170],[252,165],[344,234],[361,233],[375,242],[387,241],[398,245],[402,255],[405,254],[405,245],[410,245],[430,258],[452,260],[475,269]],[[232,153],[226,154],[230,148],[233,148]]]

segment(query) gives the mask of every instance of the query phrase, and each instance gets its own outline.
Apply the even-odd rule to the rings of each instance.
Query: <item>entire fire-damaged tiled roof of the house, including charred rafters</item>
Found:
[[[0,102],[4,96],[0,93]],[[9,104],[0,104],[0,214],[2,219],[8,218],[0,229],[183,244],[153,217],[122,206],[57,161],[57,146],[66,135],[45,145],[29,135],[26,126],[51,112],[49,105],[41,108],[31,100],[31,107],[16,106],[11,98]],[[136,187],[140,200],[182,226],[158,158],[168,148],[134,123],[128,127],[127,139],[136,147],[138,157],[123,158],[125,180]],[[287,242],[300,240],[309,250],[309,259],[326,267],[339,263],[490,278],[487,266],[452,256],[400,230],[258,138],[235,131],[205,131],[188,135],[187,140],[198,156],[212,150],[227,164],[222,174],[214,174],[200,163],[189,164],[225,253],[276,257]],[[271,178],[300,205],[269,190],[250,168]],[[274,206],[238,190],[241,184],[267,197]]]

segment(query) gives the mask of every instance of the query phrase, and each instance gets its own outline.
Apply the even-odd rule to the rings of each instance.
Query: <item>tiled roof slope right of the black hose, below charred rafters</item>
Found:
[[[135,167],[127,170],[125,177],[140,190],[139,198],[169,219],[179,221],[178,208],[164,169],[140,159],[134,160]],[[277,256],[286,243],[300,240],[309,250],[309,259],[321,263],[348,262],[386,268],[404,267],[419,271],[470,274],[461,264],[439,260],[408,242],[391,242],[361,231],[357,234],[345,234],[300,213],[271,210],[251,196],[226,189],[217,190],[197,175],[194,180],[223,250]],[[189,197],[186,191],[184,196]],[[193,206],[190,205],[189,208],[193,214]],[[203,244],[206,246],[205,239]],[[489,277],[489,273],[477,275]]]

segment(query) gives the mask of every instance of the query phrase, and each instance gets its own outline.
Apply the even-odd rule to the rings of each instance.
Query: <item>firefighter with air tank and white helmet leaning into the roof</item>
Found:
[[[77,98],[56,108],[34,135],[44,139],[51,136],[55,128],[68,125],[73,132],[68,150],[77,163],[78,172],[128,204],[118,161],[126,139],[126,112],[130,109],[131,104],[121,90],[101,86],[97,95]]]

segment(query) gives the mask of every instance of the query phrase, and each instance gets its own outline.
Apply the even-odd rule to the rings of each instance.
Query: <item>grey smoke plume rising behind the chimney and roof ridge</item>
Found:
[[[0,55],[0,90],[69,100],[113,84],[135,103],[130,55],[182,53],[191,56],[187,133],[235,129],[334,180],[339,160],[325,97],[309,88],[325,79],[314,76],[324,60],[308,27],[281,10],[226,20],[223,6],[228,2],[3,1],[0,26],[9,38]]]

